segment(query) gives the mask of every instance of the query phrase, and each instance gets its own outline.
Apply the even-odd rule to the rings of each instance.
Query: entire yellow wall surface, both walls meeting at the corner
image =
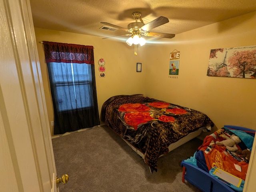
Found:
[[[199,110],[216,128],[238,125],[256,129],[256,80],[206,75],[210,49],[256,45],[256,12],[162,39],[162,44],[134,47],[113,39],[35,28],[49,121],[54,120],[48,71],[40,41],[93,45],[98,108],[118,94],[145,94]],[[169,78],[169,57],[180,51],[178,78]],[[98,76],[98,60],[106,61],[106,77]],[[142,63],[142,72],[136,72]],[[50,126],[51,127],[51,126]],[[53,131],[51,130],[53,134]]]

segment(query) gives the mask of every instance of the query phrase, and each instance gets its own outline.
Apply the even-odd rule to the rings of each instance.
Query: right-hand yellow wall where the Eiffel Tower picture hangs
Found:
[[[180,33],[163,43],[160,48],[146,47],[147,96],[204,112],[218,129],[256,129],[256,80],[206,75],[210,49],[256,45],[256,12]],[[174,49],[180,51],[177,79],[168,78]]]

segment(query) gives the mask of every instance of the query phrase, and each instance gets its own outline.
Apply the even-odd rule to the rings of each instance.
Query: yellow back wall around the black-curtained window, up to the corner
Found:
[[[90,35],[40,28],[35,28],[35,33],[49,121],[54,121],[54,113],[48,70],[44,59],[44,49],[40,41],[92,45],[95,48],[94,63],[99,113],[102,104],[111,96],[121,94],[145,94],[145,56],[139,47],[138,55],[135,56],[134,47],[128,46],[125,42],[118,42],[112,39],[102,39],[101,37]],[[106,63],[105,78],[99,77],[98,60],[100,58],[103,58]],[[142,72],[136,72],[137,63],[142,63]],[[50,127],[53,135],[53,127],[51,124]]]

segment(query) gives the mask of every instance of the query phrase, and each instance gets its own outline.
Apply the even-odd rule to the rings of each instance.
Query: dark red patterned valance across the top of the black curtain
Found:
[[[46,63],[94,64],[93,46],[44,41]]]

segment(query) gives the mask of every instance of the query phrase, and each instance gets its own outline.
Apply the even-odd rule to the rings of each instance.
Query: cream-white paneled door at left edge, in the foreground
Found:
[[[0,0],[0,191],[57,191],[29,0]]]

